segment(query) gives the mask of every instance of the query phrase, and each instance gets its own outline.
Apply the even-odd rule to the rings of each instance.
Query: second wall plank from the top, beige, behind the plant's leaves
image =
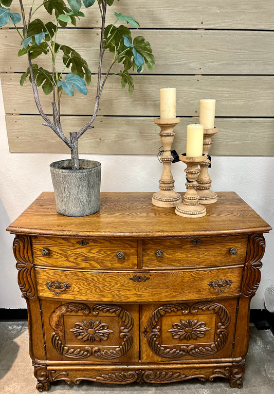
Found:
[[[274,33],[269,31],[224,30],[142,30],[155,55],[155,74],[271,74],[274,63]],[[62,29],[60,44],[69,43],[87,61],[90,70],[98,72],[100,34],[90,29]],[[20,72],[27,69],[28,61],[20,60],[17,52],[21,39],[16,30],[0,31],[1,71]],[[103,72],[108,69],[113,54],[105,53]],[[35,60],[33,61],[35,63]],[[47,55],[39,57],[42,67],[51,69]],[[63,69],[62,56],[58,67]],[[113,68],[122,69],[121,64]],[[145,73],[151,73],[144,70]]]

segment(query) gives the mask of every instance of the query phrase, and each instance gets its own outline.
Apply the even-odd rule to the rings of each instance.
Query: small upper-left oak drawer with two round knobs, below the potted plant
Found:
[[[35,265],[102,269],[137,268],[137,241],[32,237]]]

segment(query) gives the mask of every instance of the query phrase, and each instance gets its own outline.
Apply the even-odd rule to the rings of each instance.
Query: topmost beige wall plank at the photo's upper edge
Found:
[[[28,10],[32,0],[25,0]],[[12,5],[13,6],[13,5]],[[19,4],[14,4],[14,12],[20,12]],[[266,12],[267,10],[267,12]],[[83,9],[86,17],[77,22],[79,27],[100,27],[100,13],[97,7]],[[120,1],[111,8],[106,23],[115,21],[114,12],[132,15],[140,22],[141,27],[158,29],[268,29],[273,30],[271,21],[274,18],[272,0],[130,0]],[[160,12],[159,12],[160,11]],[[236,14],[235,14],[236,12]],[[191,17],[190,17],[191,15]],[[36,17],[44,18],[48,14],[43,7],[36,12]],[[128,25],[129,26],[129,25]]]

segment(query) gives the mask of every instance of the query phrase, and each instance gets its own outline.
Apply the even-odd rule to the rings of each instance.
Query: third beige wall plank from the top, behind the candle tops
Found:
[[[38,114],[32,97],[31,84],[21,87],[19,85],[20,78],[21,75],[16,73],[2,74],[1,76],[6,114]],[[274,116],[274,77],[178,76],[174,78],[173,76],[139,75],[136,76],[134,84],[135,91],[129,97],[127,91],[122,90],[120,92],[117,90],[120,89],[119,77],[108,80],[100,101],[99,115],[159,117],[159,89],[162,86],[174,86],[177,92],[177,116],[198,116],[199,100],[201,97],[208,95],[217,100],[216,116]],[[95,85],[94,80],[88,86],[88,90],[94,92]],[[119,98],[117,94],[119,94]],[[50,114],[50,97],[44,96],[42,93],[40,96],[45,112]],[[22,97],[24,97],[24,100],[22,100]],[[85,97],[79,92],[75,92],[73,98],[62,95],[61,100],[63,115],[71,115],[71,107],[75,115],[91,115],[93,111],[93,95]],[[218,126],[217,123],[216,126]],[[179,128],[180,126],[176,127]],[[222,130],[220,130],[220,127],[218,128],[221,134]],[[257,142],[260,141],[257,140]]]

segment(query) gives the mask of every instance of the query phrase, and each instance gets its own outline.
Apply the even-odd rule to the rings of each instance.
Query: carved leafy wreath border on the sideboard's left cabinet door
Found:
[[[119,316],[123,326],[120,327],[120,338],[123,339],[123,342],[120,346],[118,346],[115,350],[107,350],[101,349],[98,346],[85,346],[84,348],[74,349],[69,346],[66,346],[62,343],[60,339],[61,333],[64,331],[64,327],[62,326],[62,316],[69,312],[82,312],[83,314],[94,314],[98,315],[99,312],[101,313],[114,313],[116,316]],[[91,355],[97,357],[99,359],[117,359],[124,355],[132,346],[132,335],[129,331],[133,327],[133,319],[129,312],[125,309],[117,306],[117,305],[104,305],[98,304],[95,305],[92,310],[86,305],[81,303],[67,303],[58,308],[56,308],[51,316],[50,316],[50,326],[54,330],[51,334],[51,344],[53,348],[58,351],[59,354],[64,355],[65,357],[69,357],[72,359],[84,359],[90,357]],[[84,322],[84,321],[83,321]],[[89,321],[90,322],[90,321]],[[99,321],[98,321],[99,322]],[[85,322],[87,323],[87,322]],[[100,323],[101,324],[101,323]],[[98,327],[100,327],[100,324]],[[81,325],[81,323],[76,323],[76,325]],[[106,325],[104,324],[104,327]],[[94,329],[94,328],[93,328]],[[102,330],[102,324],[100,330]],[[108,328],[107,328],[108,329]],[[74,329],[72,329],[74,330]],[[71,331],[72,331],[71,330]],[[57,331],[57,332],[55,332]],[[110,333],[113,332],[112,330],[108,330]]]

